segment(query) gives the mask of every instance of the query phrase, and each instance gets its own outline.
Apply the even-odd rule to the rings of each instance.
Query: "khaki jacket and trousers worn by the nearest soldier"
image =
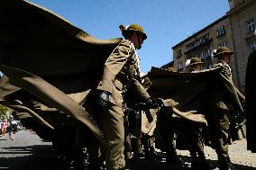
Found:
[[[107,141],[105,161],[108,170],[125,166],[123,157],[123,93],[128,88],[127,85],[142,100],[150,97],[137,79],[139,74],[139,58],[133,43],[123,40],[105,61],[103,77],[97,86],[98,90],[104,90],[111,94],[111,106],[106,112],[99,114],[100,125]]]

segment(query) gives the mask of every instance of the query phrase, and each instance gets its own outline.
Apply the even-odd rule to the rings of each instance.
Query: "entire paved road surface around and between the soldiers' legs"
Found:
[[[216,166],[215,150],[206,147],[206,158]],[[236,141],[229,146],[231,160],[238,169],[256,170],[256,154],[246,150],[246,140]],[[178,157],[190,166],[187,150],[178,150]],[[72,169],[63,158],[51,149],[51,142],[41,140],[30,130],[20,130],[14,140],[8,136],[0,137],[0,169],[8,170],[65,170]],[[180,166],[166,166],[164,162],[130,159],[131,170],[180,170]],[[189,169],[189,168],[188,168]],[[217,169],[217,168],[216,168]]]

